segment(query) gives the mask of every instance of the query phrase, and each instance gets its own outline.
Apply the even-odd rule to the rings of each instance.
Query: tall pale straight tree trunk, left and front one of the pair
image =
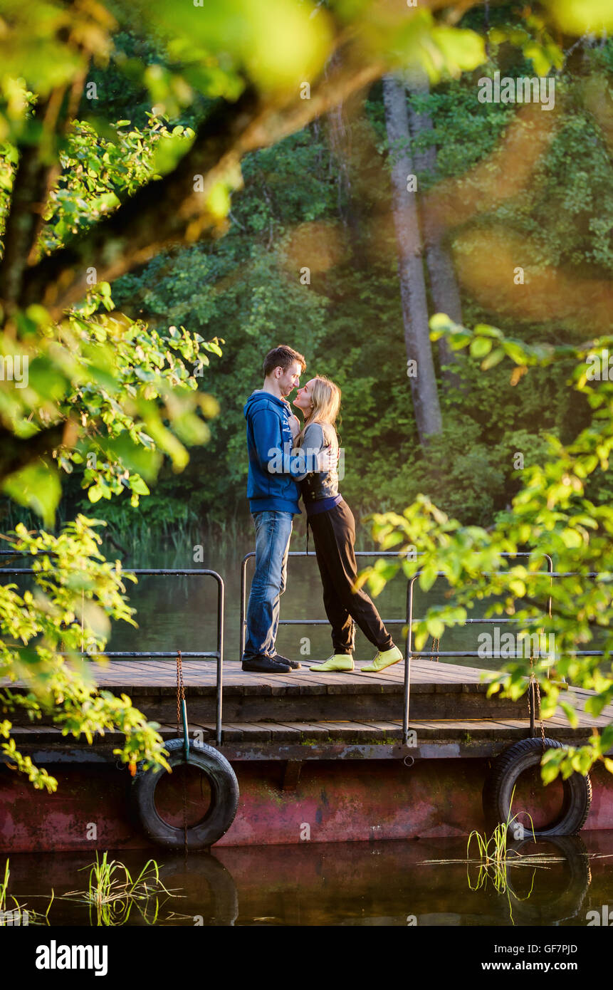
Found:
[[[391,75],[383,77],[385,126],[391,158],[392,203],[398,243],[398,275],[402,300],[407,374],[421,444],[441,433],[443,423],[428,327],[428,300],[422,262],[422,240],[415,192],[408,176],[414,174],[410,151],[405,88]],[[414,361],[415,365],[411,364]],[[411,375],[415,368],[416,373]]]

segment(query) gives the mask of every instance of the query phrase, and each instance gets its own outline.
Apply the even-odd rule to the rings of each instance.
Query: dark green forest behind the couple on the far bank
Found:
[[[123,64],[138,60],[161,74],[167,52],[123,5],[108,6],[119,30],[108,64],[92,66],[88,78],[117,128],[106,137],[96,133],[95,102],[84,91],[75,115],[81,123],[64,151],[53,194],[56,229],[53,234],[51,226],[48,236],[58,241],[63,227],[91,219],[93,192],[98,203],[106,198],[111,204],[136,188],[153,171],[160,134],[189,134],[210,105],[203,97],[184,110],[177,106],[171,118],[153,116],[150,89],[141,79],[131,84]],[[524,25],[518,32],[517,23],[513,3],[469,11],[461,26],[489,33],[489,67],[444,79],[425,95],[407,90],[409,114],[432,122],[414,132],[411,143],[420,196],[446,181],[458,183],[460,196],[462,180],[474,191],[477,176],[482,181],[479,163],[503,145],[522,108],[480,103],[477,79],[494,68],[502,76],[536,74],[535,59],[526,54],[530,44],[534,49],[534,31]],[[496,30],[498,45],[491,42]],[[606,37],[579,39],[554,71],[559,102],[566,94],[563,119],[531,172],[526,174],[521,154],[497,162],[489,201],[472,197],[474,208],[449,234],[465,326],[490,324],[527,343],[556,345],[576,345],[602,330],[593,326],[589,292],[572,291],[583,277],[594,284],[610,279],[613,269],[610,150],[589,107],[572,91],[577,76],[593,72],[613,78],[613,42]],[[549,116],[540,115],[543,121]],[[77,168],[84,154],[89,178]],[[446,379],[433,347],[443,430],[427,449],[420,445],[407,374],[389,157],[378,80],[303,130],[243,158],[244,188],[233,198],[223,237],[163,250],[114,282],[113,302],[133,320],[160,332],[185,327],[207,341],[224,341],[198,379],[221,411],[210,421],[208,443],[192,448],[181,473],[165,462],[137,508],[126,511],[129,490],[111,499],[102,485],[108,500],[97,502],[95,515],[108,520],[120,545],[142,548],[177,529],[195,542],[212,533],[236,538],[251,532],[243,405],[261,384],[263,354],[280,343],[306,355],[304,380],[325,373],[343,391],[342,490],[357,517],[402,508],[425,492],[462,523],[488,526],[517,493],[518,466],[542,459],[544,435],[566,443],[588,422],[586,400],[570,398],[566,385],[571,356],[510,380],[506,364],[484,374],[478,356],[461,353],[454,376]],[[66,221],[61,211],[68,201]],[[74,201],[83,206],[82,215]],[[309,284],[301,276],[305,266]],[[526,272],[524,284],[513,281],[516,266]],[[550,293],[536,306],[526,303],[534,295],[531,282],[554,268],[570,291],[563,298]],[[429,309],[436,312],[430,296]],[[78,511],[91,514],[82,483],[78,470],[64,478],[58,525]],[[611,470],[597,484],[591,494],[610,500]],[[38,525],[37,516],[8,498],[0,511],[3,528],[18,519]]]

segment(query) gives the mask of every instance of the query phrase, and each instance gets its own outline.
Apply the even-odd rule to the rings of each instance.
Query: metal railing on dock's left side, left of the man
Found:
[[[0,550],[2,556],[28,556],[27,553],[20,553],[16,550]],[[39,554],[37,554],[39,555]],[[43,555],[43,554],[41,554]],[[224,579],[216,570],[208,569],[176,569],[165,567],[135,567],[123,568],[124,574],[141,574],[143,576],[162,577],[212,577],[217,584],[217,649],[215,650],[181,650],[183,659],[200,660],[214,659],[217,662],[216,676],[216,703],[215,703],[215,740],[217,745],[222,741],[222,688],[223,688],[223,665],[224,665],[224,608],[225,608],[225,585]],[[3,574],[33,574],[31,567],[2,567],[0,566],[0,578]],[[105,650],[101,655],[110,658],[124,657],[128,659],[169,659],[175,658],[178,650]],[[69,655],[59,653],[59,656]],[[96,656],[95,652],[83,649],[77,655],[87,656],[90,659]]]

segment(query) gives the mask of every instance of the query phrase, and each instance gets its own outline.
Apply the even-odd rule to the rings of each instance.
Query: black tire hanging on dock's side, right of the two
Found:
[[[558,740],[546,739],[545,748],[563,749],[564,746]],[[518,778],[525,770],[537,766],[542,755],[543,742],[534,738],[515,743],[494,760],[483,787],[483,813],[488,827],[494,828],[509,820],[511,795]],[[554,822],[534,830],[538,839],[575,836],[585,825],[592,799],[588,774],[572,773],[562,781],[562,787],[562,811]],[[532,830],[525,829],[526,837],[532,836]]]

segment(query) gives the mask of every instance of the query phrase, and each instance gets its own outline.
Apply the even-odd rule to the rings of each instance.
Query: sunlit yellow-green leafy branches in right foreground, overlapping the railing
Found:
[[[521,488],[508,511],[500,513],[487,530],[462,525],[424,495],[402,515],[374,514],[374,539],[381,549],[397,549],[399,559],[381,559],[361,572],[359,582],[367,581],[378,594],[397,573],[418,575],[426,592],[438,577],[447,581],[453,589],[447,597],[453,594],[454,604],[430,607],[415,623],[417,650],[430,636],[440,638],[447,628],[464,623],[475,603],[484,599],[485,617],[511,617],[517,624],[516,637],[545,634],[546,642],[551,642],[553,636],[554,655],[538,650],[524,657],[516,653],[493,679],[489,694],[502,691],[518,699],[534,676],[541,685],[543,717],[553,716],[560,706],[576,726],[579,702],[584,700],[590,716],[599,716],[613,701],[613,507],[589,497],[590,480],[608,471],[613,450],[613,381],[602,374],[602,368],[608,367],[613,335],[580,347],[526,345],[495,327],[480,324],[470,331],[442,315],[433,317],[431,327],[434,340],[445,336],[454,349],[478,352],[485,372],[491,355],[498,353],[500,362],[510,360],[526,378],[534,368],[558,362],[567,366],[570,359],[567,384],[573,400],[575,394],[583,396],[592,416],[566,444],[555,436],[545,438],[546,452],[524,467]],[[598,377],[591,373],[595,362],[590,355],[598,357]],[[555,572],[565,575],[563,580],[549,576],[545,554],[551,555]],[[549,598],[551,616],[544,610]],[[586,698],[567,694],[562,678],[591,693]],[[543,779],[547,783],[559,772],[563,777],[573,771],[586,773],[596,760],[613,772],[611,746],[613,724],[602,732],[594,730],[585,745],[550,751],[543,760]]]

